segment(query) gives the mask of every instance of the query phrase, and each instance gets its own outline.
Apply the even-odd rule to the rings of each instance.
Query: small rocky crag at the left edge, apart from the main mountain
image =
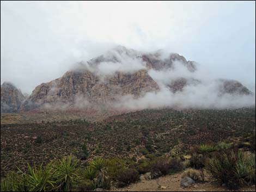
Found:
[[[25,100],[21,91],[11,83],[1,85],[1,113],[17,113]]]

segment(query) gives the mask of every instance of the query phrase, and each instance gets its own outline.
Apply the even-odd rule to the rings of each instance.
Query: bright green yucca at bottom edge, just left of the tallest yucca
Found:
[[[19,168],[19,171],[22,174],[24,187],[28,191],[51,191],[54,189],[56,181],[54,181],[54,173],[52,164],[48,164],[43,168],[43,163],[41,163],[38,168],[34,165],[32,167],[28,164],[27,173],[22,172]]]

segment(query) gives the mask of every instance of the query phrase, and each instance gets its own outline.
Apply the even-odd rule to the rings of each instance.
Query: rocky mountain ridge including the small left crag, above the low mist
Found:
[[[161,50],[139,52],[118,46],[99,57],[77,63],[62,77],[36,86],[24,102],[25,97],[20,91],[3,84],[1,113],[33,109],[105,108],[118,102],[129,103],[124,98],[133,101],[143,98],[148,92],[153,94],[149,99],[154,102],[154,93],[159,94],[164,88],[175,95],[189,87],[189,91],[185,92],[193,94],[193,98],[197,97],[198,90],[204,89],[203,93],[215,94],[217,100],[226,94],[252,94],[236,80],[215,79],[209,84],[200,76],[195,76],[196,72],[197,63],[187,61],[178,53],[167,54]],[[209,89],[212,84],[213,88]],[[173,97],[171,94],[163,95]]]

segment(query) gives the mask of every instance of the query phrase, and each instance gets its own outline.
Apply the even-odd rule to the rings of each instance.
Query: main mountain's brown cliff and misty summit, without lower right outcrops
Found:
[[[148,70],[172,69],[174,62],[196,70],[192,61],[187,61],[179,54],[170,54],[162,58],[161,51],[142,53],[134,49],[118,46],[106,54],[87,62],[81,62],[74,70],[66,72],[62,77],[49,83],[42,83],[34,89],[32,95],[22,104],[22,110],[32,110],[42,106],[80,107],[81,101],[104,104],[118,101],[121,96],[138,98],[146,92],[158,91],[159,85],[148,74]],[[120,71],[103,74],[101,64],[121,64]],[[132,63],[143,63],[141,68],[128,69]],[[101,71],[99,73],[99,71]],[[66,106],[65,106],[66,107]]]

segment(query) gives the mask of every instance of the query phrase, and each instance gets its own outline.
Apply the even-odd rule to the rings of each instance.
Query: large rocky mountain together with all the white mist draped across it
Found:
[[[4,95],[8,93],[5,91]],[[124,46],[81,61],[62,77],[36,86],[23,103],[21,92],[16,95],[8,97],[19,97],[19,101],[12,99],[1,104],[1,112],[6,111],[4,105],[15,106],[10,107],[10,112],[255,106],[254,93],[240,82],[215,78],[178,53],[140,52]]]

